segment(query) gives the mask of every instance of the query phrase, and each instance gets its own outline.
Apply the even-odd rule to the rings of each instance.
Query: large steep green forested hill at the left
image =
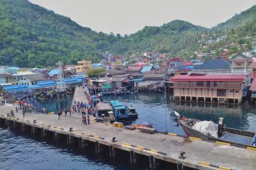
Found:
[[[19,67],[99,60],[116,38],[79,26],[27,0],[0,1],[0,63]]]

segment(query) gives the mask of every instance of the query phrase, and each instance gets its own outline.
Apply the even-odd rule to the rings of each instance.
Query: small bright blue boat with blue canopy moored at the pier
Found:
[[[114,116],[117,120],[132,118],[129,114],[129,109],[119,101],[110,101],[110,105],[113,108]]]

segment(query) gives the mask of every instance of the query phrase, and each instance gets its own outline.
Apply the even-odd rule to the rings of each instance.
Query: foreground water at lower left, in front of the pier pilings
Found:
[[[54,142],[52,135],[1,128],[0,169],[149,169],[149,157],[137,155],[137,163],[130,164],[129,152],[118,150],[111,158],[108,147],[96,154],[94,146],[94,142],[86,142],[82,148],[68,146],[64,135]],[[156,169],[176,169],[176,164],[158,162]]]

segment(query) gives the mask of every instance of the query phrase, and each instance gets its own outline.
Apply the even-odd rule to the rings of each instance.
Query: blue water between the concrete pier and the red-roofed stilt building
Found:
[[[104,101],[113,100],[113,96],[105,96]],[[187,117],[200,120],[213,120],[218,123],[218,118],[223,117],[225,125],[230,128],[250,130],[256,132],[256,111],[255,106],[248,103],[243,105],[217,104],[169,101],[167,104],[167,120],[165,117],[165,99],[161,93],[139,93],[137,96],[124,95],[116,96],[116,99],[126,104],[132,105],[139,113],[139,119],[133,123],[150,122],[154,128],[164,132],[165,123],[167,130],[184,135],[181,127],[176,127],[176,118],[173,111],[178,111]]]

